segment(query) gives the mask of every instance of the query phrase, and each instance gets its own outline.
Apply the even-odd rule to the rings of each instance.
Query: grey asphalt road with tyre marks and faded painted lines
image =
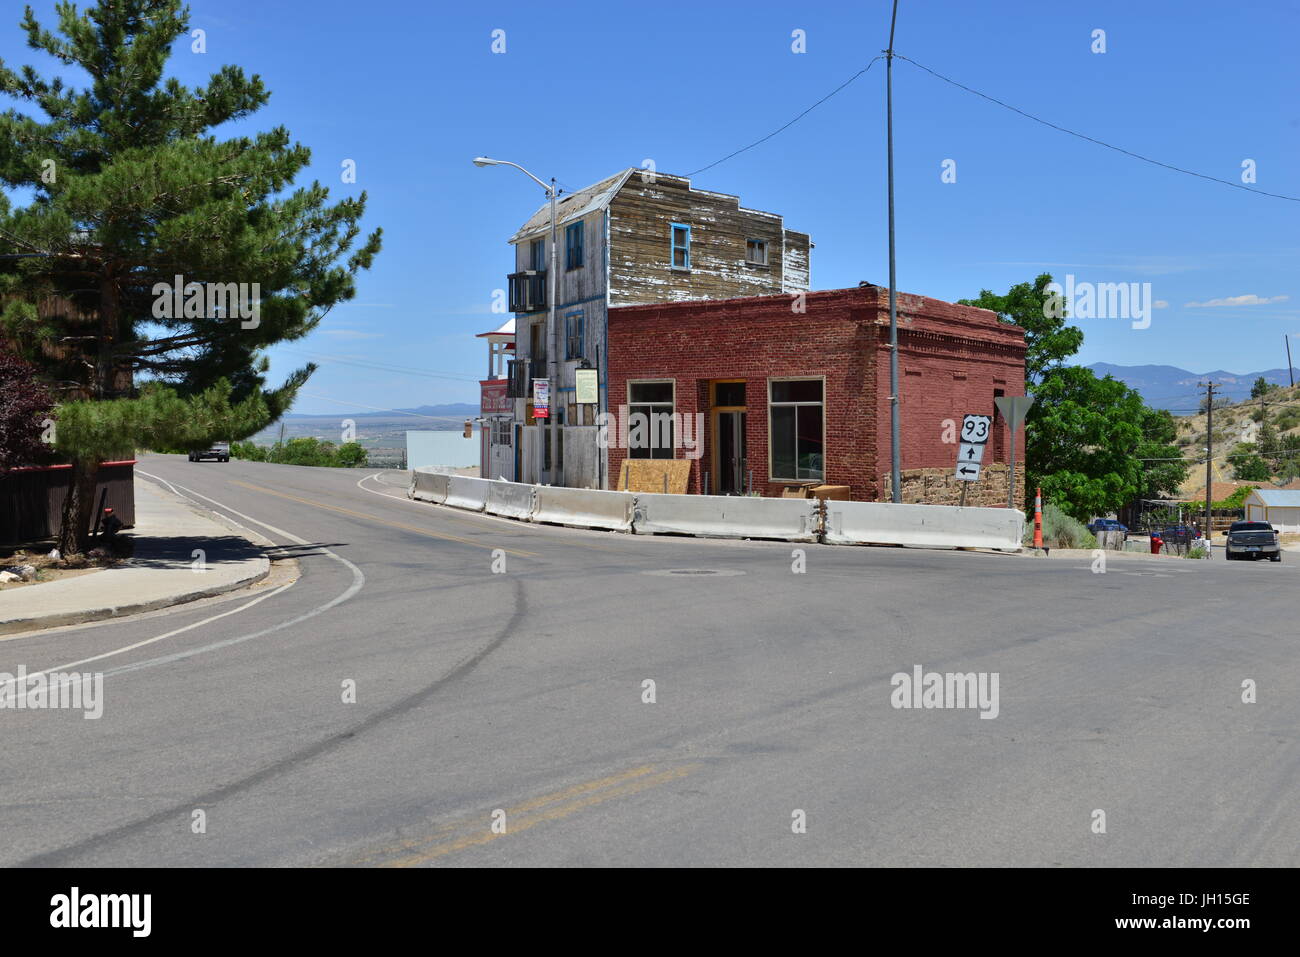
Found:
[[[399,473],[139,468],[296,575],[0,641],[105,675],[99,720],[0,711],[0,865],[1300,863],[1295,562],[633,537]],[[893,707],[914,666],[997,674],[997,716]]]

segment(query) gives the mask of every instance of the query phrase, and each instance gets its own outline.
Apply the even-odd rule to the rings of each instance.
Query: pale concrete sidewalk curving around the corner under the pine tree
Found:
[[[135,540],[135,555],[117,568],[0,592],[0,635],[153,611],[243,588],[270,571],[260,547],[139,477],[135,528],[124,534]]]

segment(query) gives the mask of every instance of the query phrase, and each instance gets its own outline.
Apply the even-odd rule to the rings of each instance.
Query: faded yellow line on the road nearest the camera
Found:
[[[576,814],[580,810],[594,807],[595,805],[604,804],[606,801],[612,801],[618,797],[628,797],[641,791],[647,791],[649,788],[685,778],[698,767],[701,767],[698,763],[682,765],[656,772],[654,765],[645,765],[616,775],[610,775],[608,778],[575,784],[571,788],[566,788],[551,794],[542,794],[541,797],[534,797],[520,805],[506,809],[506,830],[503,832],[493,831],[491,827],[482,823],[481,819],[463,822],[463,824],[445,824],[434,832],[432,841],[406,841],[395,848],[387,849],[386,853],[390,854],[393,850],[408,850],[410,853],[399,854],[398,857],[385,862],[382,866],[416,867],[422,863],[430,863],[446,857],[447,854],[489,844],[498,837],[508,837],[510,835],[528,831],[546,822],[562,820],[563,818]],[[529,811],[536,813],[530,814]],[[436,843],[447,832],[462,830],[464,826],[473,827],[474,830],[469,833],[462,835],[460,837],[455,837],[441,844]],[[411,850],[419,845],[422,845],[420,850]]]

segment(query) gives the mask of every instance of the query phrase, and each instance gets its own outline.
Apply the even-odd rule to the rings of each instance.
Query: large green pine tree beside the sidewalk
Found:
[[[289,407],[313,367],[269,389],[261,350],[352,298],[380,230],[361,235],[364,192],[291,190],[309,151],[286,129],[213,135],[269,92],[238,66],[192,90],[164,75],[188,39],[181,0],[56,10],[49,31],[27,8],[27,46],[88,86],[0,61],[0,94],[21,105],[0,114],[0,183],[34,194],[17,209],[0,195],[0,335],[58,390],[73,554],[101,459],[244,438]]]

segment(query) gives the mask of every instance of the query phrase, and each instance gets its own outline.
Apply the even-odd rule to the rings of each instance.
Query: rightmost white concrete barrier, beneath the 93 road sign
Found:
[[[1019,549],[1024,512],[946,505],[827,502],[829,545],[922,545],[949,549]]]

